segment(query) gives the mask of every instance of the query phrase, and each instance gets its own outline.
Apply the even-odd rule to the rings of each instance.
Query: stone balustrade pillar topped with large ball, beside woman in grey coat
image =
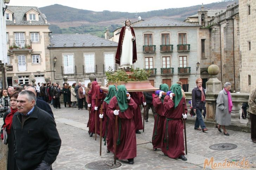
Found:
[[[217,79],[219,73],[219,67],[215,64],[212,64],[208,67],[208,73],[210,74],[209,80],[206,82],[206,120],[215,121],[216,114],[216,100],[218,93],[221,90],[221,81]]]

